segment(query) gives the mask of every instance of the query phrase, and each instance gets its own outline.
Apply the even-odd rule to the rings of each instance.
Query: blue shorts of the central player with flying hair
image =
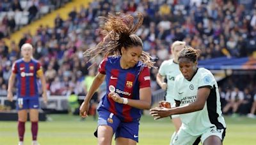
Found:
[[[124,137],[132,139],[136,142],[139,141],[139,121],[123,122],[115,114],[104,110],[100,110],[98,113],[98,127],[99,125],[108,125],[112,127],[115,134],[115,139],[117,137]],[[95,132],[95,136],[97,136],[97,131]]]

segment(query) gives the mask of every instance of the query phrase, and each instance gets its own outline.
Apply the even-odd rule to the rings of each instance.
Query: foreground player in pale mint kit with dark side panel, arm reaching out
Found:
[[[218,85],[212,73],[197,67],[198,52],[185,46],[179,53],[180,74],[175,79],[175,102],[179,107],[156,107],[150,114],[157,120],[180,114],[182,125],[172,144],[222,144],[225,121],[221,113]]]

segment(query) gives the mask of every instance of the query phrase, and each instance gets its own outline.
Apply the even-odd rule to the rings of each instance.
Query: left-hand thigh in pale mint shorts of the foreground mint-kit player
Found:
[[[177,134],[175,135],[172,141],[172,144],[173,145],[194,144],[194,142],[199,136],[200,135],[194,136],[194,135],[188,134],[184,129],[180,128],[179,132],[177,132]]]

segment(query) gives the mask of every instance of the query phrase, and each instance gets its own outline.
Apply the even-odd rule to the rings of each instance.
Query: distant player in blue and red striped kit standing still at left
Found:
[[[18,133],[19,145],[23,144],[25,123],[28,118],[27,110],[29,110],[29,119],[31,121],[31,133],[33,142],[36,141],[38,132],[38,107],[39,93],[36,83],[37,77],[42,83],[42,97],[44,102],[47,102],[46,82],[44,73],[40,63],[32,58],[33,47],[26,43],[21,47],[22,59],[16,60],[12,67],[12,74],[8,82],[8,100],[13,100],[13,84],[17,78],[17,110],[18,110]]]

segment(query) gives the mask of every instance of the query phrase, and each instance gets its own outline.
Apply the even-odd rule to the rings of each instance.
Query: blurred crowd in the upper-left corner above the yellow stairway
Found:
[[[65,1],[53,0],[1,0],[0,1],[0,39],[8,38],[22,25],[60,8]]]

